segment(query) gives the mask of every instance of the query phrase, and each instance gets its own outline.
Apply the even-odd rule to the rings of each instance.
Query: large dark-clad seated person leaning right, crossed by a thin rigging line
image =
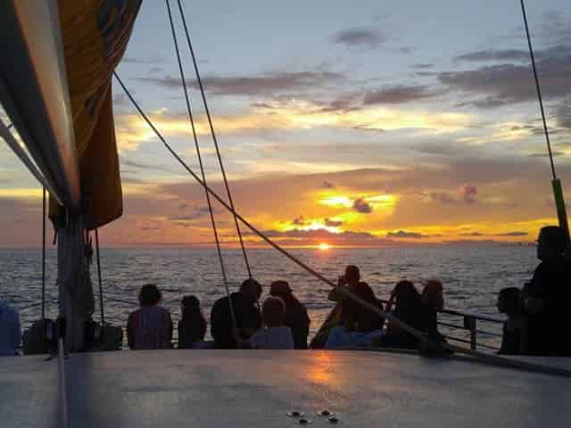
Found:
[[[244,341],[250,339],[252,334],[261,328],[261,315],[256,307],[256,301],[260,296],[261,285],[253,279],[246,279],[240,285],[238,292],[230,294],[237,333]],[[211,335],[217,348],[233,350],[238,347],[234,327],[228,296],[216,300],[211,310]]]

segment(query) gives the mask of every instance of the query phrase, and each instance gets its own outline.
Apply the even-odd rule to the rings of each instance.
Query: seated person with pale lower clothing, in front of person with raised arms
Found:
[[[360,299],[379,307],[379,300],[366,283],[358,283],[352,292]],[[383,318],[372,310],[365,308],[360,302],[349,297],[343,299],[343,315],[341,325],[329,333],[325,348],[328,350],[370,346],[371,342],[383,335]]]

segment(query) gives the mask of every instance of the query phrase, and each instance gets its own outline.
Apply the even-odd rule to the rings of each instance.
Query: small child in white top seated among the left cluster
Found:
[[[279,297],[269,297],[261,307],[264,326],[248,341],[257,350],[293,350],[294,335],[285,325],[285,303]]]

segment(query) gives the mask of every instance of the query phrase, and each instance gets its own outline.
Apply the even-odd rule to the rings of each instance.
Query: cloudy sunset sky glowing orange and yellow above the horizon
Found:
[[[236,208],[277,242],[530,242],[555,223],[518,0],[185,4]],[[527,6],[571,201],[571,2]],[[225,194],[179,37],[208,179]],[[163,2],[143,2],[118,72],[198,172]],[[211,245],[201,188],[116,84],[114,108],[125,212],[103,243]],[[41,241],[41,188],[4,143],[0,212],[0,246]]]

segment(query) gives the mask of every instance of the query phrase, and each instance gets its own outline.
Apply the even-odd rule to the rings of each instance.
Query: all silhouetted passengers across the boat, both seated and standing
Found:
[[[499,293],[498,309],[507,315],[501,353],[571,356],[566,311],[571,300],[571,265],[567,248],[563,229],[543,227],[537,245],[541,263],[532,280],[521,290],[510,287]],[[217,300],[211,309],[213,342],[204,342],[207,322],[200,301],[195,296],[185,296],[178,322],[178,348],[307,349],[310,317],[289,284],[272,283],[269,297],[260,308],[261,294],[261,284],[251,278],[237,292]],[[140,308],[128,317],[130,349],[172,348],[172,319],[170,312],[161,307],[161,299],[156,285],[142,287]],[[418,349],[426,342],[424,339],[436,344],[444,342],[437,328],[437,313],[444,306],[443,284],[439,281],[426,282],[421,292],[412,282],[400,281],[384,308],[371,287],[361,281],[359,268],[349,266],[328,299],[336,302],[335,309],[311,341],[311,348]],[[419,338],[424,342],[419,342]],[[19,315],[0,301],[0,356],[14,355],[20,342]]]

